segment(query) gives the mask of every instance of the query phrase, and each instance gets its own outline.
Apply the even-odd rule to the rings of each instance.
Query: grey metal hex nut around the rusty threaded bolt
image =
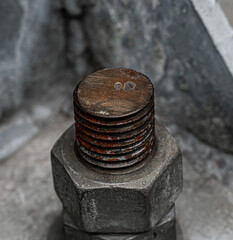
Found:
[[[170,209],[182,190],[182,161],[172,136],[156,120],[156,146],[140,168],[99,172],[75,154],[75,130],[69,128],[52,149],[57,195],[81,231],[148,231]]]

